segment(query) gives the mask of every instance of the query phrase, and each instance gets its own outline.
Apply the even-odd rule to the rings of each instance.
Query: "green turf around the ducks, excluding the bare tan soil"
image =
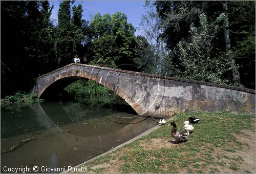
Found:
[[[242,157],[233,158],[228,154],[215,156],[216,150],[220,148],[233,154],[236,153],[237,149],[242,148],[243,144],[232,134],[236,132],[243,135],[240,131],[242,129],[254,132],[254,116],[241,113],[185,112],[177,115],[172,122],[175,122],[177,128],[182,130],[183,122],[190,116],[199,117],[201,120],[193,125],[195,127],[194,132],[189,135],[187,142],[180,145],[166,145],[162,148],[145,148],[140,144],[143,140],[143,143],[150,145],[155,138],[163,139],[165,142],[173,140],[170,135],[172,126],[168,126],[170,122],[167,122],[139,140],[90,161],[87,166],[109,163],[114,158],[123,161],[120,170],[116,172],[179,173],[182,170],[188,173],[219,173],[218,167],[227,166],[226,161],[229,161],[232,164],[230,171],[239,171],[240,167],[236,162],[243,161]],[[101,168],[98,171],[105,172]]]

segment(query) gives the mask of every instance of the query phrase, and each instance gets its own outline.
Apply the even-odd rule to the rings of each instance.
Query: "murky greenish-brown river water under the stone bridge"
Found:
[[[136,115],[120,98],[98,103],[1,107],[1,172],[37,166],[42,173],[46,172],[40,171],[42,166],[75,166],[157,125],[154,118]]]

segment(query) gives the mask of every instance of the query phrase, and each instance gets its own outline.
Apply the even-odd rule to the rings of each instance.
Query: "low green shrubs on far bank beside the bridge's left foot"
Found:
[[[33,102],[42,102],[42,99],[37,98],[34,93],[24,93],[24,92],[16,92],[12,96],[6,96],[1,99],[1,106],[7,107],[10,104],[16,103],[33,103]]]

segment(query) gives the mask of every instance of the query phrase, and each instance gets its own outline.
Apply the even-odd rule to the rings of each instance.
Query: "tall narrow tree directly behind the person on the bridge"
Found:
[[[80,57],[84,54],[83,40],[86,37],[84,23],[86,21],[82,19],[82,5],[73,6],[71,16],[70,3],[72,2],[63,1],[59,5],[58,26],[54,44],[58,67],[73,62],[75,55]]]

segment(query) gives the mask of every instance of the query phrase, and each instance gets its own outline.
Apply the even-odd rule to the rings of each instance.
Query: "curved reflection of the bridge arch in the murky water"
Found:
[[[33,111],[36,113],[36,120],[38,123],[46,126],[53,134],[57,135],[61,140],[67,143],[69,146],[80,149],[92,149],[99,150],[102,153],[112,147],[117,146],[117,142],[124,142],[136,137],[137,135],[145,132],[146,130],[152,128],[155,123],[145,123],[143,121],[136,124],[126,124],[124,127],[116,130],[113,133],[107,133],[99,136],[77,136],[73,135],[72,132],[67,132],[59,128],[45,113],[44,109],[41,107],[40,103],[32,106]],[[140,119],[141,120],[141,119]],[[133,122],[138,122],[135,119]],[[139,125],[139,126],[138,126]],[[125,135],[125,136],[124,136]],[[129,138],[130,137],[130,138]],[[129,138],[129,139],[127,139]]]

